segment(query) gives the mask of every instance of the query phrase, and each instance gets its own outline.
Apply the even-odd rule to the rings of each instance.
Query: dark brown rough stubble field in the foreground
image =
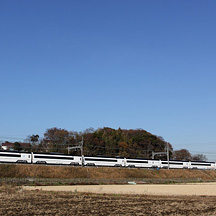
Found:
[[[216,197],[25,191],[0,187],[0,215],[216,215]]]

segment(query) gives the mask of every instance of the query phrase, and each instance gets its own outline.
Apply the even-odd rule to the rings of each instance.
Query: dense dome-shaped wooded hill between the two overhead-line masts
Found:
[[[152,151],[163,152],[167,145],[162,137],[143,129],[115,130],[104,127],[95,131],[86,130],[80,135],[84,138],[84,154],[89,156],[151,158]],[[172,149],[170,144],[169,147]],[[166,158],[166,156],[162,157]]]

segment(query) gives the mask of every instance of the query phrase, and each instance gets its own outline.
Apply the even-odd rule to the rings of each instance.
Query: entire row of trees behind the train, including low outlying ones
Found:
[[[169,150],[169,157],[174,160],[207,160],[203,154],[191,155],[187,149],[173,150],[170,143],[163,137],[153,135],[143,129],[112,129],[108,127],[93,129],[88,128],[83,132],[67,131],[61,128],[50,128],[41,139],[39,135],[28,136],[25,142],[29,146],[22,147],[14,143],[14,150],[34,152],[57,152],[64,154],[80,155],[71,147],[80,145],[84,140],[83,154],[88,156],[109,156],[128,158],[152,158],[152,152],[164,152],[156,155],[155,159],[166,160],[165,152]]]

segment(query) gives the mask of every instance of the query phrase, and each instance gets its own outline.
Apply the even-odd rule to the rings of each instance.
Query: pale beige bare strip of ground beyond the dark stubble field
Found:
[[[141,194],[166,196],[216,196],[216,183],[142,184],[142,185],[82,185],[24,186],[24,190],[71,191],[106,194]]]

